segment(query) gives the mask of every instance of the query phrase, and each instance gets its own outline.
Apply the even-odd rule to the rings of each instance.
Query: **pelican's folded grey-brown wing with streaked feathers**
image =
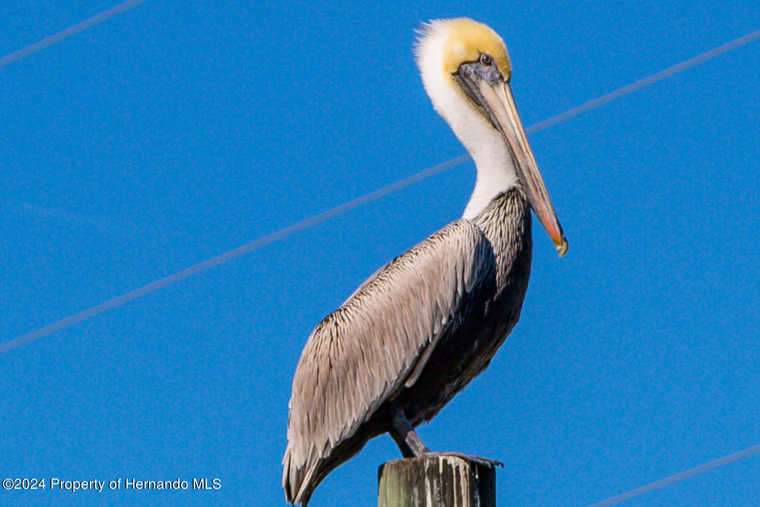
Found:
[[[308,501],[331,450],[413,384],[465,300],[492,278],[490,243],[457,220],[380,268],[312,331],[293,379],[283,486]]]

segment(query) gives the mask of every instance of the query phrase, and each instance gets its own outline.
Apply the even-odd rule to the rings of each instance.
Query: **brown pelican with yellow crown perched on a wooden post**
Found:
[[[283,458],[293,504],[306,505],[327,474],[382,433],[404,457],[436,454],[414,428],[486,369],[517,324],[530,208],[559,255],[568,249],[499,35],[470,19],[432,21],[420,29],[416,61],[435,110],[475,161],[477,182],[459,220],[372,274],[309,336]]]

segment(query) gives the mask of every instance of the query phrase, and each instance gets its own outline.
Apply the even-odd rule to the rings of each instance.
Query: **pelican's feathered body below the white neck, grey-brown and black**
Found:
[[[306,505],[334,467],[388,432],[389,402],[416,426],[488,366],[518,322],[530,249],[530,208],[511,189],[395,258],[325,317],[293,379],[289,502]]]

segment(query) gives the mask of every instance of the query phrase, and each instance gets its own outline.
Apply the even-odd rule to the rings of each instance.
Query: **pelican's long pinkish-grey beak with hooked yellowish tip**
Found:
[[[559,219],[554,211],[552,200],[549,199],[549,192],[546,192],[541,173],[538,172],[533,151],[527,144],[525,129],[520,121],[515,97],[512,97],[509,84],[502,85],[500,81],[492,86],[483,79],[480,80],[478,90],[485,101],[484,108],[489,109],[488,112],[491,113],[489,116],[492,119],[496,119],[495,126],[502,132],[506,144],[511,149],[530,207],[533,208],[543,228],[549,233],[549,237],[557,248],[557,253],[562,257],[568,251],[568,241],[565,239],[565,233],[562,232],[562,226],[559,225]]]

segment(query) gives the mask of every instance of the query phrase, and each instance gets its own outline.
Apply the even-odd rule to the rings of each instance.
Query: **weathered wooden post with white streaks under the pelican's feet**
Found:
[[[496,507],[496,470],[457,456],[407,458],[378,468],[378,507]]]

